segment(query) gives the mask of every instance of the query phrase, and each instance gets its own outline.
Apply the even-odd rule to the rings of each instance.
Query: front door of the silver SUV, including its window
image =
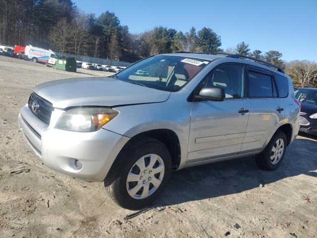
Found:
[[[250,110],[244,71],[241,63],[220,64],[196,88],[195,94],[202,88],[223,88],[225,99],[193,102],[187,163],[240,153]]]

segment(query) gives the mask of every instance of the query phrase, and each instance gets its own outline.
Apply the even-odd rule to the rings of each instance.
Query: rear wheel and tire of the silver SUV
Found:
[[[278,142],[280,142],[280,145],[278,145]],[[273,146],[274,148],[283,147],[283,150],[275,149],[275,152],[274,152],[272,151]],[[281,164],[282,160],[285,157],[286,147],[287,147],[287,138],[285,133],[280,130],[276,131],[272,139],[266,145],[264,151],[262,151],[256,157],[256,162],[258,166],[261,169],[268,170],[268,171],[275,170]]]

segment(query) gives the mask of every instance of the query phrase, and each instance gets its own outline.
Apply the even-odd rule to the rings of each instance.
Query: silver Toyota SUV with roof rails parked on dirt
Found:
[[[19,126],[47,167],[104,181],[127,209],[157,199],[172,170],[250,155],[274,170],[298,133],[300,105],[282,69],[246,58],[164,54],[112,77],[43,83]]]

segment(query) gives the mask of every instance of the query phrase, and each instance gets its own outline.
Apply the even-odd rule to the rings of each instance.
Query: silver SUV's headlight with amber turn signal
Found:
[[[64,112],[55,128],[90,132],[100,129],[119,114],[110,108],[75,108]]]

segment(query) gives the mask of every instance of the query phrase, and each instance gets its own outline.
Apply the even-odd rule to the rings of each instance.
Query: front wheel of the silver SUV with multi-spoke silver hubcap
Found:
[[[143,171],[140,169],[141,167],[139,168],[136,165],[136,162],[142,161],[142,158],[143,162],[145,162],[145,170]],[[156,161],[153,167],[151,167],[152,161]],[[150,163],[147,164],[147,162]],[[164,166],[163,168],[161,167],[162,164]],[[156,174],[154,174],[153,171],[152,174],[152,170],[155,169],[162,171]],[[119,153],[105,179],[106,192],[119,206],[125,209],[138,210],[149,206],[159,197],[166,186],[170,173],[171,157],[166,146],[151,137],[139,139],[130,142],[129,145]],[[127,182],[128,175],[130,176],[131,174],[135,176],[134,178],[136,178],[137,181],[134,179],[131,181],[130,179],[131,182]],[[151,178],[152,181],[150,180]],[[158,181],[160,181],[160,183],[158,183]],[[155,187],[154,184],[157,184],[157,187]],[[134,194],[132,188],[134,188],[135,192],[133,197],[131,195],[131,193]],[[149,189],[149,192],[144,192],[147,191],[146,188]],[[128,189],[130,192],[128,192]],[[144,196],[145,194],[147,196]],[[142,198],[142,196],[144,196],[144,198]]]

